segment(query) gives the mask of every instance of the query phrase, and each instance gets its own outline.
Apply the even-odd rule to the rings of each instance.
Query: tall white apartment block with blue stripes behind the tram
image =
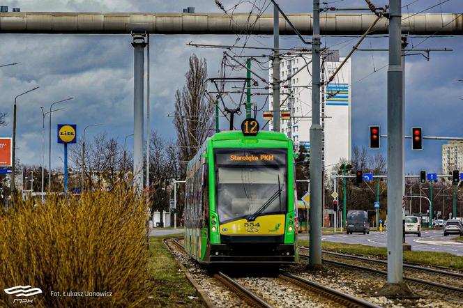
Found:
[[[290,56],[283,55],[280,60],[281,110],[291,111],[291,119],[280,121],[280,131],[293,140],[296,150],[299,146],[310,149],[311,58],[311,54],[300,53]],[[324,60],[321,70],[320,115],[323,128],[323,160],[324,166],[328,167],[337,164],[341,159],[351,159],[351,62],[350,59],[347,60],[333,80],[328,82],[343,58],[339,57],[339,52],[330,51]],[[309,65],[303,68],[307,63]],[[303,69],[298,72],[299,68]],[[273,80],[272,70],[269,71],[269,77]],[[272,89],[270,92],[272,93]],[[272,109],[273,98],[271,96],[269,110]],[[269,130],[273,130],[273,121],[269,124]]]

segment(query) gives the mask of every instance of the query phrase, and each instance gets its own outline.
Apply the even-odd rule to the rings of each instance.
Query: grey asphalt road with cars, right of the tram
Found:
[[[451,240],[455,235],[443,236],[442,229],[432,231],[422,231],[421,237],[416,234],[407,234],[405,241],[411,245],[411,250],[421,250],[426,252],[449,252],[457,256],[463,256],[463,242]],[[299,238],[307,239],[307,234],[302,234]],[[343,242],[346,244],[363,244],[376,247],[386,247],[386,232],[370,232],[370,234],[354,233],[347,234],[326,234],[321,236],[321,240],[329,242]]]

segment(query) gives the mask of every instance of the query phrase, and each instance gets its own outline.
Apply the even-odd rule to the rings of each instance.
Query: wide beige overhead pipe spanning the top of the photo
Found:
[[[312,13],[287,13],[301,35],[312,35]],[[321,35],[362,35],[377,19],[373,13],[332,13],[320,16]],[[372,33],[387,34],[389,21]],[[234,13],[0,13],[0,33],[130,34],[133,30],[157,34],[272,34],[273,14]],[[280,35],[294,35],[280,17]],[[463,35],[463,14],[402,14],[402,33],[422,36]]]

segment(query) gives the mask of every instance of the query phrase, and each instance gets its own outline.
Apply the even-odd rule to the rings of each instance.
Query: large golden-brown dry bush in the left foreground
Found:
[[[34,307],[145,306],[145,235],[144,200],[127,185],[79,199],[18,201],[0,220],[0,307],[15,298],[3,288],[17,285],[43,291],[29,297]],[[64,297],[67,291],[112,296]]]

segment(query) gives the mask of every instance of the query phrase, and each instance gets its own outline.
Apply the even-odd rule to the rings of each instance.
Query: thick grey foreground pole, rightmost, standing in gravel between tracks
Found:
[[[388,284],[402,284],[404,100],[401,0],[390,0],[388,68]]]

